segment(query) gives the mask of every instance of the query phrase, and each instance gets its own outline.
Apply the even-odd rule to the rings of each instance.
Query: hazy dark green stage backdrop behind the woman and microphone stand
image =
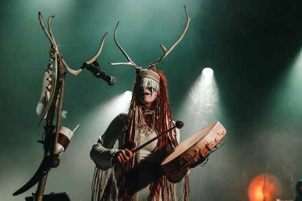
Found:
[[[59,50],[72,69],[89,60],[109,32],[98,58],[117,80],[108,86],[89,71],[67,75],[62,125],[80,127],[60,166],[51,169],[45,193],[67,192],[71,200],[90,200],[94,164],[91,145],[115,113],[108,104],[132,90],[132,67],[108,62],[126,59],[113,41],[120,21],[119,43],[130,58],[148,67],[170,46],[191,18],[187,34],[157,69],[165,71],[174,119],[183,119],[182,139],[213,120],[228,130],[224,145],[205,167],[191,170],[191,200],[248,200],[248,185],[261,173],[275,175],[280,198],[294,198],[302,178],[301,76],[302,2],[276,1],[1,1],[1,200],[25,200],[21,194],[43,158],[43,126],[36,104],[48,62],[49,41],[38,22],[51,14]],[[184,106],[203,68],[214,70],[218,106],[211,114]],[[200,122],[197,123],[196,122]]]

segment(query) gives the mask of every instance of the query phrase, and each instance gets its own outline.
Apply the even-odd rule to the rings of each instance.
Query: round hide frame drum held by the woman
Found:
[[[214,121],[185,139],[161,162],[161,168],[167,179],[173,183],[180,182],[190,168],[204,161],[209,152],[214,151],[213,148],[226,134],[227,130],[222,124]]]

